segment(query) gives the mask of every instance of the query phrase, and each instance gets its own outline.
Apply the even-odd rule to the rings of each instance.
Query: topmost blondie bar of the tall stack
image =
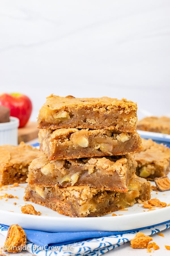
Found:
[[[75,98],[50,95],[39,111],[39,129],[89,128],[134,132],[137,104],[109,97]]]

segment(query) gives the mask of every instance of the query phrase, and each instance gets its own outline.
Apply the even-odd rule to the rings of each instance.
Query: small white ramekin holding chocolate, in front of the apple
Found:
[[[10,117],[10,122],[0,123],[0,145],[18,145],[19,119]]]

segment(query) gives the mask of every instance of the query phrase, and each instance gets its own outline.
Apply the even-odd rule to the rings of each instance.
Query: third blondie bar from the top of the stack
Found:
[[[27,182],[39,187],[89,185],[127,192],[136,169],[133,155],[49,161],[44,154],[29,166]]]

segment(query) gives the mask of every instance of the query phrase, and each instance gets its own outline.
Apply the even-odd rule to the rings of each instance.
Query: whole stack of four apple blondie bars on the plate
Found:
[[[150,199],[135,175],[137,105],[126,99],[51,95],[39,111],[40,149],[25,201],[71,217],[102,216]]]

